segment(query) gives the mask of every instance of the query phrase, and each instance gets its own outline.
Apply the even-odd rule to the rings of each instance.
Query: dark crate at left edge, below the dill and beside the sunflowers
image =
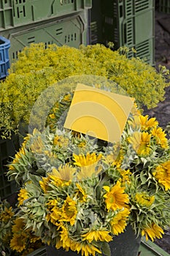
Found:
[[[16,146],[16,137],[13,136],[11,140],[3,140],[0,138],[0,197],[1,199],[12,196],[17,192],[17,185],[15,181],[8,181],[7,178],[7,164],[12,161],[19,146]]]

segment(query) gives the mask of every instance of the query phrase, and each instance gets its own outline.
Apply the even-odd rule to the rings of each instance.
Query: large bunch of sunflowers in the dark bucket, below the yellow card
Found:
[[[26,227],[85,256],[110,255],[109,241],[127,225],[136,236],[161,238],[170,222],[170,146],[158,121],[133,108],[120,142],[107,145],[54,129],[54,110],[9,165]]]

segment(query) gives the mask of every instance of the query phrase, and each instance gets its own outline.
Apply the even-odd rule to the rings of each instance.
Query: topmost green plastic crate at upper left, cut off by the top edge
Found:
[[[89,9],[92,0],[0,0],[0,31]]]

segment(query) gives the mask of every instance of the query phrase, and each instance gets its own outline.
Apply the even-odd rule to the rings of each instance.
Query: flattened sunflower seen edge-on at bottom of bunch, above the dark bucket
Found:
[[[112,236],[109,235],[109,231],[106,230],[90,230],[88,233],[82,235],[82,241],[89,241],[91,243],[95,241],[112,241]]]

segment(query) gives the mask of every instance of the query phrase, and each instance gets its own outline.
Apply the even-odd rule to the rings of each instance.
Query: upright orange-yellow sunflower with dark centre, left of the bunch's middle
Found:
[[[62,207],[62,221],[70,222],[71,225],[74,225],[76,217],[77,217],[76,202],[68,196],[66,197],[66,200],[64,201],[63,207]]]

